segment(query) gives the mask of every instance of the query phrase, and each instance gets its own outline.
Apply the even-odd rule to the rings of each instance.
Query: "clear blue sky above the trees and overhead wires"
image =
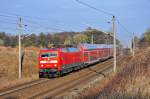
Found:
[[[150,0],[80,0],[113,13],[117,37],[128,45],[150,27]],[[7,17],[6,17],[7,16]],[[22,18],[23,33],[84,31],[87,27],[111,31],[112,16],[95,11],[76,0],[0,0],[0,31],[17,34],[18,17]]]

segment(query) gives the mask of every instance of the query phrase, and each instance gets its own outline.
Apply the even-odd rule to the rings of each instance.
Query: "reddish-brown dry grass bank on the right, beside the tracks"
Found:
[[[150,52],[143,51],[128,63],[99,95],[144,98],[150,96]]]

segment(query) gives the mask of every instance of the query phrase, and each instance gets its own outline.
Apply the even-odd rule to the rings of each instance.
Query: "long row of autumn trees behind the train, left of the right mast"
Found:
[[[92,40],[93,39],[93,40]],[[22,46],[48,47],[50,44],[77,45],[79,43],[112,44],[113,37],[100,30],[87,28],[83,32],[26,34],[21,36]],[[119,41],[118,41],[119,43]],[[1,46],[18,46],[18,35],[0,32]]]

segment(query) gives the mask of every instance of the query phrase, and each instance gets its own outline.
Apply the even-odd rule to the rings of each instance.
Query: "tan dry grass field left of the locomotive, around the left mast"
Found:
[[[24,49],[24,48],[23,48]],[[0,89],[14,84],[37,79],[37,48],[26,48],[23,60],[23,79],[18,80],[18,50],[17,48],[0,47]]]

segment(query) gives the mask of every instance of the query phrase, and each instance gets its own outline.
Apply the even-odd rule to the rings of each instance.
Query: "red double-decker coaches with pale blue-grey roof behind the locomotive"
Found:
[[[80,44],[83,53],[83,61],[86,64],[108,59],[112,56],[112,45],[107,44]]]

